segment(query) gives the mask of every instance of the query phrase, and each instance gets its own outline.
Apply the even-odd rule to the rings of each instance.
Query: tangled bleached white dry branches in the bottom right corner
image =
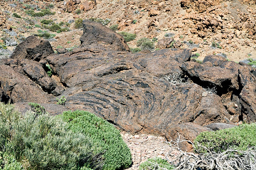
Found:
[[[176,155],[172,154],[172,151],[166,154],[167,161],[175,166],[174,170],[256,170],[256,147],[248,148],[246,151],[229,148],[217,153],[198,143],[197,147],[207,150],[207,153],[195,154],[181,150],[181,142],[191,143],[196,150],[191,141],[181,140],[180,135],[176,141],[167,142],[172,151],[179,151]]]

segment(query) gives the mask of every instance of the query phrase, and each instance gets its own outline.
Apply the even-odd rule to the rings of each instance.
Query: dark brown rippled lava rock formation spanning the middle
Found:
[[[48,41],[27,37],[0,60],[0,101],[21,112],[27,102],[54,115],[82,109],[131,134],[168,140],[177,132],[193,140],[216,129],[212,123],[256,121],[256,70],[250,65],[219,55],[198,63],[190,60],[190,49],[133,54],[122,36],[91,21],[83,22],[80,41],[79,48],[55,54]],[[60,96],[66,103],[57,104]]]

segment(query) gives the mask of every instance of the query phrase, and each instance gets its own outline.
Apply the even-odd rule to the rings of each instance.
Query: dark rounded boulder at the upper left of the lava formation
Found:
[[[45,58],[53,53],[54,52],[49,41],[38,39],[37,37],[31,35],[22,43],[17,45],[10,58],[27,58],[34,61],[40,61],[42,58]]]

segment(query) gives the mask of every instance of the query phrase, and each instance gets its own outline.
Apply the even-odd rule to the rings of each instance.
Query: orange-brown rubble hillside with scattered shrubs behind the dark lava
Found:
[[[1,45],[7,48],[1,49],[1,58],[30,35],[48,39],[54,50],[71,51],[80,45],[82,30],[75,28],[79,19],[136,34],[128,42],[130,48],[136,48],[139,39],[150,38],[152,51],[189,48],[198,61],[213,54],[235,62],[256,55],[255,1],[5,0],[0,6]]]

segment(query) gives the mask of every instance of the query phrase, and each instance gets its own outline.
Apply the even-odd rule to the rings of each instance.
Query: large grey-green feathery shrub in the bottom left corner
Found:
[[[0,113],[0,152],[10,156],[11,165],[7,166],[21,169],[20,162],[24,169],[101,168],[101,153],[93,153],[89,137],[69,130],[60,117],[40,111],[29,111],[21,117],[13,105],[3,103]]]

